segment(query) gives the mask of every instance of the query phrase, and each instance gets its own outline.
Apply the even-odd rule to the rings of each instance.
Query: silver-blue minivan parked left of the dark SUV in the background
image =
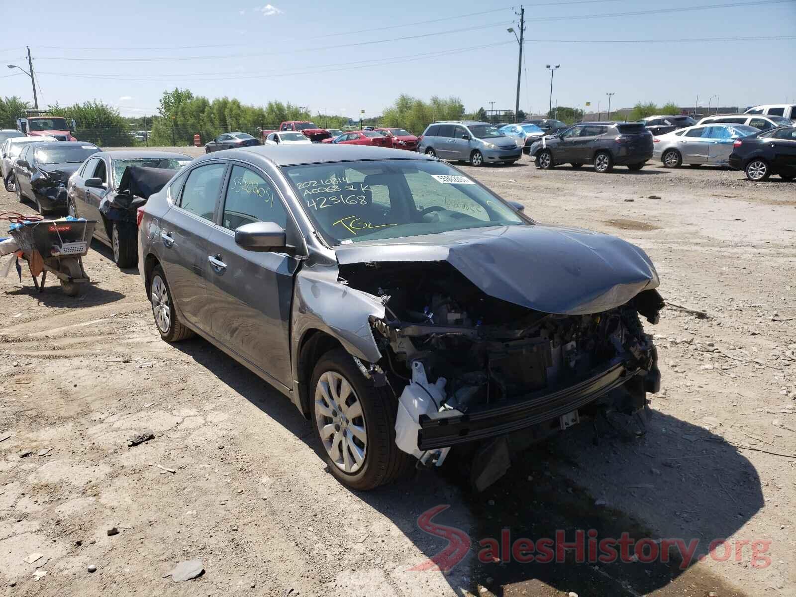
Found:
[[[511,137],[477,120],[431,123],[420,135],[417,150],[443,160],[469,162],[470,166],[513,164],[522,157],[522,148]]]

